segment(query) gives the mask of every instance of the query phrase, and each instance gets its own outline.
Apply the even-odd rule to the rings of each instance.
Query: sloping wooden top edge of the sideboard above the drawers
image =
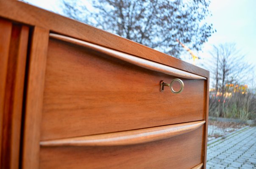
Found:
[[[17,0],[0,0],[0,16],[207,77],[209,71],[109,32]],[[40,19],[39,19],[40,17]]]

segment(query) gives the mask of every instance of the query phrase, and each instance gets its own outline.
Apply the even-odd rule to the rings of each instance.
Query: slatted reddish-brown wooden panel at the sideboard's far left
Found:
[[[29,27],[0,19],[0,168],[18,169]]]

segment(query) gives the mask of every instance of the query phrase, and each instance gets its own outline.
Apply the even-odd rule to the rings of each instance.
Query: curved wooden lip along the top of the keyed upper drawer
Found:
[[[162,65],[162,64],[159,64],[159,63],[156,63],[156,62],[152,62],[150,60],[145,60],[145,59],[142,59],[142,58],[139,58],[139,57],[135,57],[133,55],[128,55],[128,54],[125,54],[123,52],[118,52],[116,50],[109,49],[109,48],[106,48],[106,47],[103,47],[103,46],[91,44],[91,43],[86,42],[86,41],[81,41],[81,40],[78,40],[78,39],[75,39],[75,38],[70,38],[70,37],[67,37],[67,36],[64,36],[64,35],[58,35],[58,34],[55,34],[55,33],[50,33],[50,37],[61,40],[61,41],[66,41],[66,42],[69,42],[69,43],[72,43],[72,44],[77,44],[77,45],[80,45],[80,46],[84,46],[84,47],[87,47],[89,49],[93,49],[97,52],[101,52],[103,54],[118,58],[120,60],[124,60],[128,63],[132,63],[134,65],[137,65],[137,66],[140,66],[142,68],[146,68],[146,69],[149,69],[149,70],[152,70],[152,71],[158,71],[158,72],[161,72],[161,73],[164,73],[164,74],[168,74],[168,75],[171,75],[171,76],[178,76],[178,77],[182,77],[182,78],[186,78],[186,79],[203,79],[203,80],[206,80],[206,78],[203,77],[203,76],[198,76],[196,74],[192,74],[192,73],[189,73],[189,72],[186,72],[186,71],[181,71],[179,69],[172,68],[172,67],[167,66],[167,65]]]

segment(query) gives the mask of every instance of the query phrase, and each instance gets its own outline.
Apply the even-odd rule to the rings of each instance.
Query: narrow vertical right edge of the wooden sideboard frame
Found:
[[[203,169],[206,169],[206,157],[207,157],[207,139],[208,139],[208,117],[209,117],[209,78],[210,74],[208,72],[207,80],[205,81],[205,117],[204,120],[206,121],[204,127],[204,147],[203,147]]]

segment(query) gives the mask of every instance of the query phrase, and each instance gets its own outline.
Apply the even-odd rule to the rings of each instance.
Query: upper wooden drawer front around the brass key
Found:
[[[49,40],[42,140],[204,119],[203,77],[178,77],[183,71],[176,76],[157,66],[149,70],[147,60],[138,66],[60,37],[64,39],[51,35]],[[184,82],[181,93],[171,93],[168,87],[160,92],[162,80],[176,78]]]

